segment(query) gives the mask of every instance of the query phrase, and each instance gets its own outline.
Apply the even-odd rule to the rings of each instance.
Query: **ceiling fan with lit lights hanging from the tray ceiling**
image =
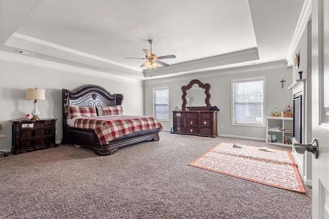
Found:
[[[144,59],[147,60],[145,61],[140,67],[147,67],[148,69],[152,69],[152,68],[157,68],[158,64],[162,65],[162,66],[169,66],[167,63],[161,62],[159,59],[173,59],[176,58],[176,56],[174,54],[172,55],[167,55],[167,56],[156,56],[156,54],[152,53],[152,43],[153,40],[149,40],[149,43],[151,45],[151,51],[148,49],[143,49],[143,51],[145,52],[145,58],[125,58],[125,59]]]

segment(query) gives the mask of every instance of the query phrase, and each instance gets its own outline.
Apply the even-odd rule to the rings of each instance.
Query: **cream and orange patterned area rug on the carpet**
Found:
[[[305,193],[296,163],[289,151],[275,153],[258,147],[219,143],[190,166],[247,179],[260,184]]]

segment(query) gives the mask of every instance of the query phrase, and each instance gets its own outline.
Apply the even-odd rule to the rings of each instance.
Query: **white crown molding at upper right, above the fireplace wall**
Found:
[[[294,52],[297,48],[297,45],[303,35],[303,32],[307,26],[307,22],[309,21],[310,14],[312,12],[312,1],[311,0],[305,0],[301,14],[299,16],[299,20],[293,35],[293,39],[291,40],[287,56],[286,56],[286,61],[288,63],[288,66],[293,66],[293,55]]]

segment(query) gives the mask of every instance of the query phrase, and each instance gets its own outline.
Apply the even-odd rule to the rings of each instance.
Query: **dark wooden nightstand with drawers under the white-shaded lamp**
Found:
[[[13,154],[21,154],[36,149],[57,147],[56,121],[48,118],[37,121],[10,120],[12,122]]]

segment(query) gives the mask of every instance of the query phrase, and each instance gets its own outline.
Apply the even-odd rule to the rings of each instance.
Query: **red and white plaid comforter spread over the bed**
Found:
[[[74,127],[95,130],[100,144],[143,130],[162,130],[161,123],[152,116],[98,116],[77,118]]]

